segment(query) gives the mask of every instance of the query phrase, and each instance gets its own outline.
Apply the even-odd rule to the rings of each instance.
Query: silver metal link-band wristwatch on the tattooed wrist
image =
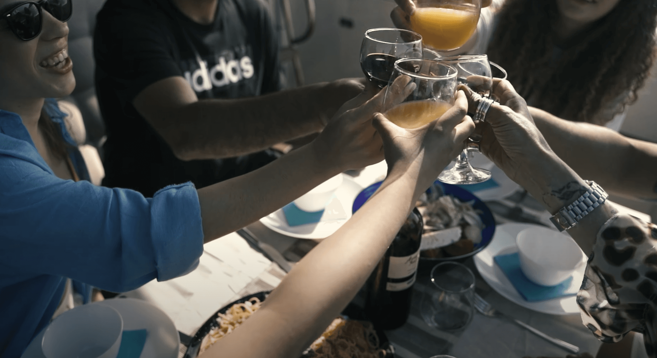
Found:
[[[595,182],[591,180],[585,180],[585,182],[589,184],[586,193],[583,193],[574,203],[563,207],[550,218],[552,224],[555,224],[559,231],[568,230],[575,226],[581,218],[602,205],[609,197],[606,191]]]

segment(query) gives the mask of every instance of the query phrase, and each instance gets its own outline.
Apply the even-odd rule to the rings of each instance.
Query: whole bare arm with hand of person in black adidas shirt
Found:
[[[133,101],[139,114],[183,160],[234,157],[319,132],[364,88],[339,80],[265,96],[198,100],[183,77],[143,89]]]

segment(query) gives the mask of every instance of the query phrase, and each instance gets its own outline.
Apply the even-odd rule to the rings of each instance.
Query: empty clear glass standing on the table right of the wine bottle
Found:
[[[457,262],[443,262],[431,270],[431,284],[420,303],[427,325],[440,330],[466,327],[474,315],[474,275]]]

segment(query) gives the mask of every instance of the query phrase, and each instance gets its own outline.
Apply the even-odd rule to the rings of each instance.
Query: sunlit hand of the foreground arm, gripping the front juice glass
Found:
[[[429,186],[463,150],[464,141],[474,131],[474,122],[466,115],[467,111],[468,100],[459,90],[452,108],[436,121],[417,129],[398,127],[376,113],[373,124],[383,140],[388,174],[419,166],[419,179]]]

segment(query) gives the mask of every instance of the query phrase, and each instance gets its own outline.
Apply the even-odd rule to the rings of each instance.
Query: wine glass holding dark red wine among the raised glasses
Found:
[[[422,36],[409,30],[378,28],[365,31],[361,68],[376,87],[388,85],[395,61],[422,57]]]

